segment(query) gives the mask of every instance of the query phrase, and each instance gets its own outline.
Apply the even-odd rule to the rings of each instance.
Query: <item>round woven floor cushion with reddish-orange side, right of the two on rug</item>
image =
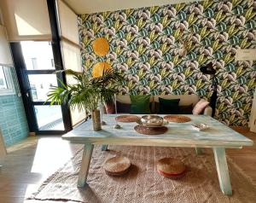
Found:
[[[156,169],[161,176],[177,179],[183,177],[186,166],[179,159],[164,158],[157,161]]]

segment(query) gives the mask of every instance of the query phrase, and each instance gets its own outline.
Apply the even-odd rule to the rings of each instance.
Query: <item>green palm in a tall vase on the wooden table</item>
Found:
[[[91,113],[93,130],[100,131],[102,126],[99,104],[113,98],[117,92],[116,86],[123,80],[121,75],[113,69],[104,70],[102,76],[97,78],[92,78],[86,71],[79,73],[67,69],[57,73],[62,72],[73,75],[77,83],[66,85],[60,81],[61,85],[49,90],[48,101],[51,105],[67,103],[72,109],[74,107],[78,107],[79,111],[85,109],[87,113]]]

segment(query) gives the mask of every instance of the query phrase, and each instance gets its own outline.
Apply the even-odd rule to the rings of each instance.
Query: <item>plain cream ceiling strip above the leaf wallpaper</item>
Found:
[[[93,14],[102,11],[137,9],[168,3],[186,3],[193,0],[63,0],[77,14]],[[195,1],[195,0],[194,0]]]

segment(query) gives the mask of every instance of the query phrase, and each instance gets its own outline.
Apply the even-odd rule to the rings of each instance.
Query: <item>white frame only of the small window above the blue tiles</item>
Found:
[[[0,89],[0,96],[8,96],[8,95],[15,95],[15,84],[12,77],[11,68],[14,67],[7,67],[3,64],[0,64],[0,67],[3,67],[3,73],[5,76],[6,84],[8,89]]]

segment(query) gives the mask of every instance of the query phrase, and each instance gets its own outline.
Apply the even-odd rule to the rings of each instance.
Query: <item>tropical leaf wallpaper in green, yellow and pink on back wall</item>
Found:
[[[79,15],[83,66],[98,61],[124,75],[120,94],[197,94],[210,98],[212,78],[200,67],[217,69],[216,118],[247,125],[256,86],[255,61],[235,61],[236,49],[256,49],[253,0],[201,1],[143,9]],[[99,57],[92,42],[110,44]]]

